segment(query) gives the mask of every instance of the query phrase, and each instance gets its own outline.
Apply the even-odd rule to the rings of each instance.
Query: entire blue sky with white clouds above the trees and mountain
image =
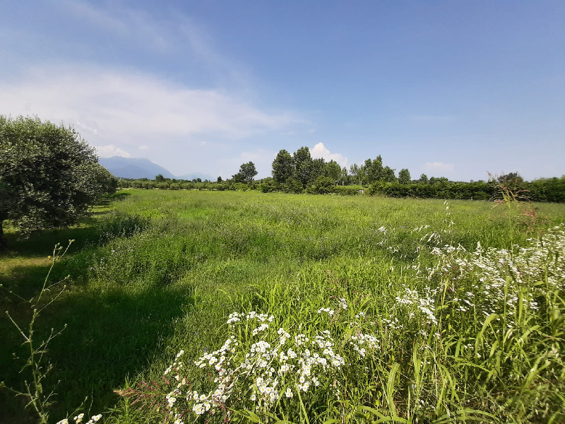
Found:
[[[0,114],[223,178],[308,146],[413,179],[565,174],[565,1],[0,0]]]

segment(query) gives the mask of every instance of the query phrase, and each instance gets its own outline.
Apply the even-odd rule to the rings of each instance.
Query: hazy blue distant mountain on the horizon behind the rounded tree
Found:
[[[193,172],[192,174],[182,175],[182,177],[175,177],[164,167],[151,162],[147,158],[122,158],[121,156],[112,156],[112,158],[100,158],[98,161],[100,162],[100,165],[109,170],[109,172],[112,172],[114,177],[119,178],[155,179],[155,175],[161,174],[165,178],[212,179],[210,175],[201,174],[200,172]]]

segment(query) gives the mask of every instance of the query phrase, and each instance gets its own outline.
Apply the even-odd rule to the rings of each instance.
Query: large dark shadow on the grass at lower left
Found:
[[[133,288],[135,290],[135,288]],[[172,335],[178,317],[194,305],[188,289],[147,288],[137,293],[122,290],[76,290],[45,310],[37,324],[36,340],[42,340],[51,328],[67,328],[49,344],[47,358],[53,370],[45,386],[56,386],[52,418],[64,418],[81,405],[85,396],[93,399],[92,413],[117,404],[114,389],[126,377],[148,368]],[[0,319],[3,342],[0,350],[0,380],[22,388],[18,372],[23,360],[14,360],[11,352],[27,358],[20,346],[22,337],[5,317]],[[32,411],[23,413],[23,404],[11,394],[1,394],[1,422],[25,422]],[[0,413],[0,416],[2,413]],[[55,422],[54,421],[54,422]]]

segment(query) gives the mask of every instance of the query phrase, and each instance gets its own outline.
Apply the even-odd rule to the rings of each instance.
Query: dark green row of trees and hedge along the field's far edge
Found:
[[[487,181],[477,182],[454,182],[446,177],[428,178],[425,174],[418,179],[411,179],[408,169],[400,170],[397,176],[394,169],[383,165],[381,155],[374,160],[367,159],[361,165],[351,165],[348,172],[335,160],[326,162],[323,158],[311,158],[308,147],[299,148],[292,155],[284,149],[279,151],[273,160],[272,177],[256,181],[255,175],[255,165],[249,162],[242,164],[231,179],[218,177],[216,182],[167,179],[157,175],[155,180],[119,179],[119,187],[489,200],[498,192],[500,184],[506,184],[524,199],[565,202],[565,176],[535,179],[532,182],[524,181],[517,172],[500,177],[491,176]]]

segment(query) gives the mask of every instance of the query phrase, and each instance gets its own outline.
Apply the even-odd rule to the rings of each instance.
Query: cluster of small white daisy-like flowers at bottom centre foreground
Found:
[[[338,304],[343,310],[347,308],[343,298]],[[334,314],[330,308],[321,308],[319,312]],[[364,313],[359,312],[357,317],[364,317]],[[260,324],[248,333],[245,331],[247,322],[253,321]],[[184,351],[180,351],[174,363],[165,370],[165,376],[172,374],[177,381],[176,387],[173,385],[165,398],[170,413],[181,413],[182,416],[182,413],[192,411],[196,416],[213,415],[242,402],[252,402],[256,409],[273,408],[278,401],[292,399],[297,392],[308,394],[328,379],[335,382],[335,376],[345,365],[345,358],[336,352],[336,346],[343,348],[350,342],[359,358],[367,351],[379,348],[375,336],[361,331],[348,335],[345,341],[337,344],[327,329],[291,335],[283,326],[276,325],[273,315],[257,312],[234,312],[228,317],[227,324],[234,335],[218,350],[205,353],[194,361],[194,366],[203,368],[208,375],[211,384],[206,389],[194,390],[182,377]]]

